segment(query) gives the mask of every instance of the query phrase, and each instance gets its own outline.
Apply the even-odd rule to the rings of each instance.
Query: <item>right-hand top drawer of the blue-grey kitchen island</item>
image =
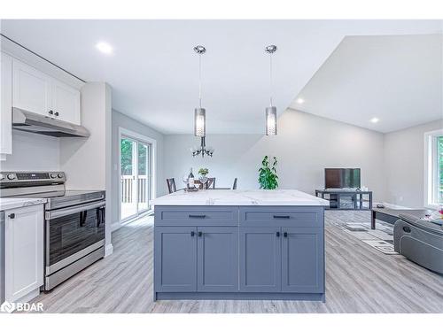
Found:
[[[323,227],[323,207],[241,207],[240,226]]]

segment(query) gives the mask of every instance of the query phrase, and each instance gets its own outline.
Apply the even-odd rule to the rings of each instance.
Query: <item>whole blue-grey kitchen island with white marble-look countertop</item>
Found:
[[[299,190],[177,191],[154,205],[154,300],[324,301],[324,207]]]

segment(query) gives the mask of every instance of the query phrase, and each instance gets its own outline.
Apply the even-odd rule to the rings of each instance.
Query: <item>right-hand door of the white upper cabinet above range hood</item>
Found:
[[[80,91],[52,80],[51,108],[59,120],[80,125]]]

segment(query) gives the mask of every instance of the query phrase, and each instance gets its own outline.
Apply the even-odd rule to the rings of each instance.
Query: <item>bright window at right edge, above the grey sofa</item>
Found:
[[[443,130],[424,135],[424,205],[443,205]]]

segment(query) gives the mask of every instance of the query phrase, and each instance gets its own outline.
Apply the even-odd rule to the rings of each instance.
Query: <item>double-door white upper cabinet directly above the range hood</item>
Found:
[[[12,106],[80,125],[80,91],[13,60]]]

